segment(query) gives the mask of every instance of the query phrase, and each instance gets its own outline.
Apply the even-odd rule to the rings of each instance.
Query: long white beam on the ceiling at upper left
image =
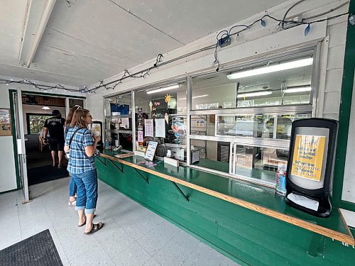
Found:
[[[23,35],[20,63],[30,67],[56,0],[32,0]]]

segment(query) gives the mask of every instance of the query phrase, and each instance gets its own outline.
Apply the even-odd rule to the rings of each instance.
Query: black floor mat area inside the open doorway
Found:
[[[45,165],[27,170],[28,186],[60,179],[63,177],[69,177],[69,172],[67,172],[66,166],[62,166],[62,168],[58,169],[52,165]]]

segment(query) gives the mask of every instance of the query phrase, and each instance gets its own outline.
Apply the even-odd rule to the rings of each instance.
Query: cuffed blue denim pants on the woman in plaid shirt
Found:
[[[77,204],[75,210],[85,210],[85,214],[94,214],[97,204],[97,170],[82,174],[70,173],[77,184]]]

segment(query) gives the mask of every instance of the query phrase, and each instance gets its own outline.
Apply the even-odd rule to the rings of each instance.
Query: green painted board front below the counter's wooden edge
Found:
[[[247,265],[352,265],[354,262],[354,248],[312,231],[180,186],[190,199],[186,201],[170,180],[146,172],[147,184],[129,165],[124,165],[122,174],[111,163],[104,165],[99,160],[96,163],[99,179],[236,262]],[[121,165],[114,160],[113,163]],[[157,167],[163,166],[160,164]],[[180,167],[168,167],[166,171],[175,173]],[[247,189],[241,190],[247,193]],[[124,215],[124,205],[118,204],[111,211]],[[313,257],[309,255],[312,251]]]

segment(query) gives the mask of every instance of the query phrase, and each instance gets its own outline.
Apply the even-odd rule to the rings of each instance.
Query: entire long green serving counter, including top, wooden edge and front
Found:
[[[354,265],[354,237],[342,215],[304,214],[272,189],[143,157],[97,158],[99,179],[180,226],[212,248],[249,265]]]

